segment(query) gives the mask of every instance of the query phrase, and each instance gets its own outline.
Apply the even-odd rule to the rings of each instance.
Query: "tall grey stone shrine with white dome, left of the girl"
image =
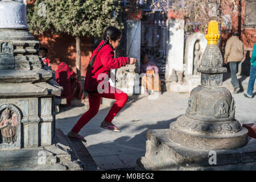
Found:
[[[44,165],[72,162],[53,140],[54,96],[60,96],[61,86],[39,57],[39,41],[27,31],[26,1],[0,1],[0,9],[5,10],[0,13],[0,169],[40,170],[40,155]]]

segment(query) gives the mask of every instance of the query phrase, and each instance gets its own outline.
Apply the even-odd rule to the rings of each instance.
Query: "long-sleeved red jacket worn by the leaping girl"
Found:
[[[98,47],[100,47],[103,43],[104,40],[101,41]],[[90,57],[90,61],[92,60],[92,57],[96,55],[98,47],[94,49],[92,56]],[[105,73],[110,78],[110,69],[125,67],[127,64],[129,64],[129,57],[114,58],[114,51],[112,47],[110,47],[109,44],[106,44],[100,49],[95,57],[93,67],[90,69],[90,71],[86,71],[84,90],[89,93],[97,93],[98,84],[101,81],[104,81],[104,77],[97,80],[100,73]],[[108,85],[110,85],[109,82]],[[102,86],[102,89],[104,89],[104,86]]]

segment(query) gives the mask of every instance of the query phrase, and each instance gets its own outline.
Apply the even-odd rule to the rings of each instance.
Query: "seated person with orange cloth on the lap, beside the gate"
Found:
[[[148,93],[148,88],[150,88],[153,91],[159,92],[159,94],[162,94],[161,92],[161,82],[159,80],[159,76],[155,75],[158,74],[158,67],[155,65],[155,63],[152,60],[148,60],[148,55],[146,53],[142,53],[141,54],[141,73],[146,73],[143,75],[142,80],[141,80],[141,84],[142,86],[144,86],[145,88],[145,95],[147,96]],[[140,74],[141,74],[140,73]],[[156,88],[154,86],[155,83],[155,79],[156,82],[158,82],[158,88]]]

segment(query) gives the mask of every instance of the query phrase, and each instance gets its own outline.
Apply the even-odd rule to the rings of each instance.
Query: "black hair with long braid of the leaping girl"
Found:
[[[90,69],[92,68],[93,66],[93,63],[94,63],[94,60],[95,60],[95,57],[97,56],[98,52],[100,51],[100,49],[102,47],[104,47],[106,44],[109,44],[109,40],[113,40],[113,41],[116,41],[118,40],[119,38],[121,38],[121,35],[122,35],[122,32],[116,28],[116,27],[113,27],[113,26],[109,26],[108,28],[106,28],[106,30],[104,31],[104,34],[102,36],[102,39],[105,41],[98,49],[97,49],[97,53],[96,55],[94,55],[92,57],[92,60],[90,60],[89,64],[88,64],[88,67],[85,69],[85,71],[87,69]],[[109,44],[110,45],[110,44]],[[112,47],[112,45],[110,45],[110,47]],[[112,47],[113,48],[113,47]]]

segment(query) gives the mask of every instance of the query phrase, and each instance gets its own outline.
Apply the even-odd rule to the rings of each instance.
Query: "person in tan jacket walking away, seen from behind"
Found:
[[[240,85],[237,79],[237,64],[243,60],[243,42],[238,38],[238,31],[234,31],[226,42],[224,63],[229,63],[231,73],[231,83],[234,87],[234,94],[240,91]]]

